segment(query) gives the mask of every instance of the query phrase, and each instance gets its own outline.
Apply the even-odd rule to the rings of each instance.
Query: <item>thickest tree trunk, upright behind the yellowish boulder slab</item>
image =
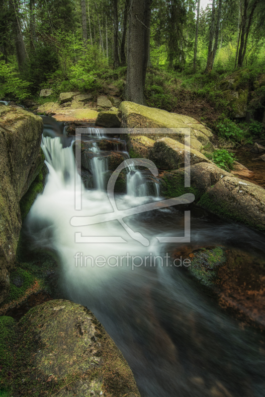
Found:
[[[147,67],[148,40],[146,25],[152,0],[132,0],[129,11],[129,46],[124,98],[145,104],[144,82]]]

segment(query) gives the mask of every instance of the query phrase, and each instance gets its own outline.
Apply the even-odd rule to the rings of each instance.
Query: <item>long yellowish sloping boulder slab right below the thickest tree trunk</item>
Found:
[[[183,132],[190,130],[190,144],[196,150],[206,147],[213,149],[211,130],[200,124],[192,117],[169,113],[166,110],[149,108],[133,102],[124,101],[119,106],[122,114],[121,127],[123,128],[145,128],[145,129],[167,129],[165,131],[143,131],[151,139],[157,140],[164,136],[171,136],[180,142],[184,142]],[[175,130],[175,131],[174,131]]]

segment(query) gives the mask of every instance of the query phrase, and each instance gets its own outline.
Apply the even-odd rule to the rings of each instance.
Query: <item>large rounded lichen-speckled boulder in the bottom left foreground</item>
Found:
[[[16,334],[16,341],[8,338],[14,358],[4,363],[13,395],[140,397],[122,353],[86,307],[53,300],[32,308],[16,328],[5,324]]]

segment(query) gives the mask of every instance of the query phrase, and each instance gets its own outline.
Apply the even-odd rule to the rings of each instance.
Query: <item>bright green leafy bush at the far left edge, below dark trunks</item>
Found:
[[[25,99],[29,96],[30,85],[20,78],[15,66],[0,61],[0,98],[10,95],[14,99]]]

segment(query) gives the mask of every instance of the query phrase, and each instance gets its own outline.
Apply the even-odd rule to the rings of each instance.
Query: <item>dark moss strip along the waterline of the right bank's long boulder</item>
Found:
[[[257,221],[253,220],[253,222],[251,222],[249,221],[249,219],[243,217],[242,214],[237,212],[235,209],[231,209],[231,205],[229,205],[227,201],[222,201],[221,199],[219,199],[218,203],[214,202],[207,192],[201,196],[197,204],[207,209],[208,211],[220,215],[224,218],[245,223],[251,227],[254,227],[255,229],[259,229],[262,231],[265,230],[265,227],[258,224]]]

